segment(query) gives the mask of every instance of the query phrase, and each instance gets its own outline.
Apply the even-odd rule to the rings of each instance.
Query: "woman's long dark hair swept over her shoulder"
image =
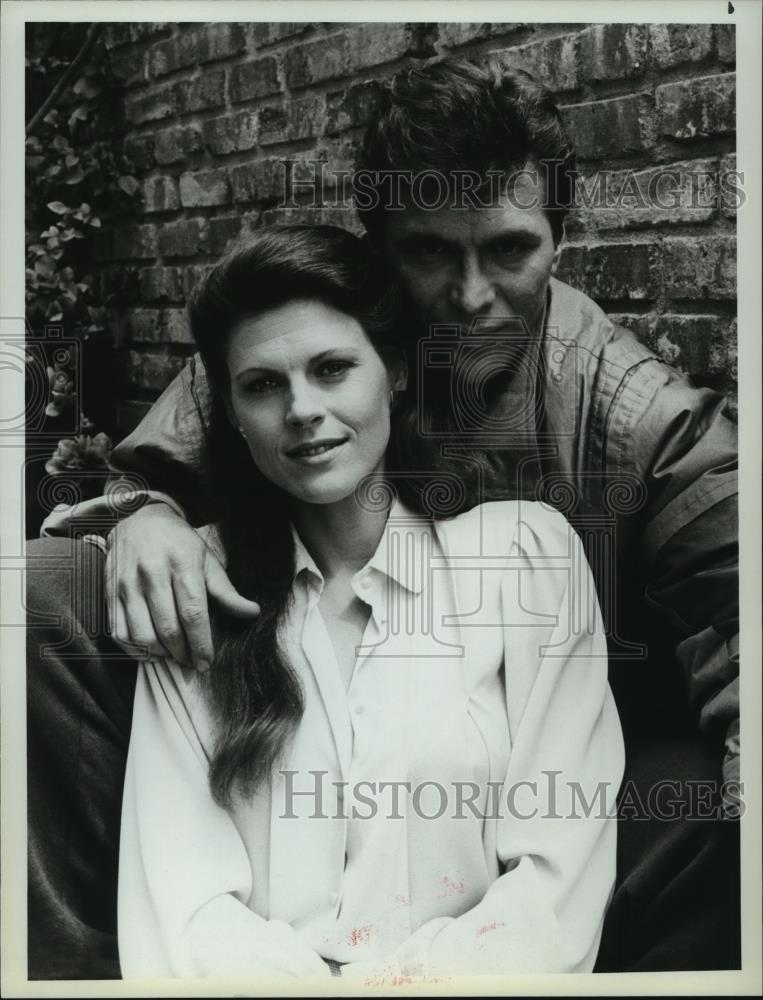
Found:
[[[380,262],[367,241],[333,226],[264,229],[191,296],[191,332],[212,389],[206,461],[227,572],[262,609],[244,622],[213,609],[215,657],[202,683],[217,725],[210,787],[223,806],[234,789],[251,794],[270,774],[303,712],[298,678],[278,642],[294,574],[289,498],[257,469],[225,407],[232,328],[295,300],[317,300],[357,319],[386,363],[405,350],[397,298]],[[392,468],[400,464],[395,451],[392,441]],[[401,486],[406,502],[421,510],[420,492],[405,480]]]

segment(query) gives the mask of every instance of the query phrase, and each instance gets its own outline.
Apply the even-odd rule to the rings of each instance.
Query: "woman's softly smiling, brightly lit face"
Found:
[[[392,384],[357,320],[288,302],[237,323],[227,362],[232,419],[276,486],[328,504],[383,471]]]

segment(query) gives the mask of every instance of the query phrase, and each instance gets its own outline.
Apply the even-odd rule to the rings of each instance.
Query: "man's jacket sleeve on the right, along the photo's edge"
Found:
[[[647,602],[677,635],[676,656],[703,732],[725,741],[739,781],[739,575],[736,428],[724,398],[659,362],[656,383],[618,446],[647,489],[640,537]],[[646,383],[648,384],[648,383]]]

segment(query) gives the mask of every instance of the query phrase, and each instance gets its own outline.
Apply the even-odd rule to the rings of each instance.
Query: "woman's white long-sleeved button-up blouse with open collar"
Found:
[[[396,504],[353,577],[371,610],[347,690],[322,585],[297,538],[281,641],[304,716],[270,783],[230,812],[208,788],[196,673],[139,671],[123,975],[328,976],[323,959],[377,985],[590,971],[623,742],[573,529],[537,503],[434,523]]]

